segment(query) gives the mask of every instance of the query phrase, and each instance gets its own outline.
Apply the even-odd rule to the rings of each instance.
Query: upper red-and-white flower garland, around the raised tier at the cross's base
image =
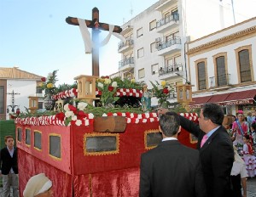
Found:
[[[101,96],[102,92],[96,88],[96,96],[97,95]],[[76,88],[72,88],[70,90],[66,90],[61,93],[57,93],[53,95],[52,99],[58,100],[60,98],[65,99],[65,98],[70,98],[75,96],[78,96],[78,90]],[[132,88],[119,88],[116,91],[116,96],[118,97],[132,96],[132,97],[141,98],[143,96],[143,91],[139,89],[132,89]]]

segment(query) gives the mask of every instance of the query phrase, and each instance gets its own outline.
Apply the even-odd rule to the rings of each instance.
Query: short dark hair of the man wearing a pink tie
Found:
[[[224,110],[218,104],[207,103],[201,108],[205,119],[210,119],[216,125],[222,125],[224,120]]]

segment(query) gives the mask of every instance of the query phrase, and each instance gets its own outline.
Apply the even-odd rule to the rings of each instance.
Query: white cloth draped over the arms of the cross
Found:
[[[88,30],[88,27],[84,20],[78,18],[78,21],[79,21],[79,29],[81,31],[81,34],[84,40],[85,53],[91,53],[92,48],[94,47],[94,43],[90,39],[90,31]],[[125,37],[123,37],[119,33],[113,32],[113,28],[114,28],[114,25],[109,25],[108,36],[105,37],[105,39],[102,40],[102,42],[100,42],[99,47],[106,45],[111,35],[113,35],[114,37],[118,37],[122,42],[125,42]]]

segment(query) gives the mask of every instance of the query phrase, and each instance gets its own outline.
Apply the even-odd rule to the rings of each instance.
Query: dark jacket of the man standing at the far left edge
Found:
[[[2,174],[7,175],[11,167],[13,168],[15,174],[18,174],[18,160],[17,160],[17,149],[15,149],[13,158],[9,155],[9,150],[7,147],[1,149],[0,163]]]

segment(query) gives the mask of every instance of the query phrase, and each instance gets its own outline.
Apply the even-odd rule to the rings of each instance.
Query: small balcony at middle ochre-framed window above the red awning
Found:
[[[226,89],[230,88],[230,74],[218,75],[217,77],[209,77],[210,88],[212,89]]]

